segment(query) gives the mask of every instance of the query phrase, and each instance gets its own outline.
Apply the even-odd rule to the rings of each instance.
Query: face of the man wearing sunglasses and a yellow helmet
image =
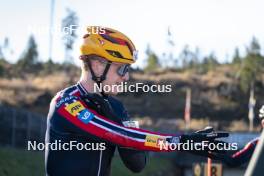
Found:
[[[97,71],[99,72],[98,75],[101,75],[104,72],[105,65],[106,64],[104,64],[104,63],[100,63],[100,66],[97,69]],[[122,63],[112,63],[111,64],[111,66],[110,66],[110,68],[106,74],[106,80],[104,80],[102,83],[103,86],[106,86],[107,88],[109,88],[109,87],[111,88],[110,92],[105,92],[106,94],[117,95],[118,89],[117,89],[116,85],[120,85],[122,82],[129,80],[129,73],[128,72],[124,76],[120,76],[117,73],[118,69],[123,65],[126,65],[126,64],[122,64]],[[109,89],[107,89],[107,90],[109,90]]]

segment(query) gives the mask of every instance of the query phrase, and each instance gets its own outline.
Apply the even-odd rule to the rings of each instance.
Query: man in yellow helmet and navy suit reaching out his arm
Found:
[[[159,142],[178,144],[187,140],[216,142],[226,133],[205,129],[191,134],[160,134],[139,129],[129,119],[117,91],[95,90],[94,84],[118,85],[129,79],[136,60],[131,40],[110,28],[88,27],[81,46],[80,81],[53,98],[47,119],[46,174],[51,176],[107,176],[116,149],[133,172],[146,164],[145,151],[171,151]],[[57,143],[59,149],[52,148]],[[192,151],[194,152],[194,151]],[[207,156],[208,150],[197,154]]]

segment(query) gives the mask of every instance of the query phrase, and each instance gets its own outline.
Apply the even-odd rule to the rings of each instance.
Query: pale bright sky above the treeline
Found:
[[[48,59],[50,4],[51,0],[0,2],[0,45],[8,37],[13,52],[5,50],[4,54],[9,61],[15,62],[22,55],[32,33],[40,59]],[[81,27],[107,26],[129,36],[139,51],[136,66],[144,65],[148,44],[159,56],[171,51],[177,56],[188,44],[192,50],[199,47],[203,56],[213,51],[221,62],[230,61],[235,47],[243,54],[253,36],[264,46],[262,0],[55,0],[54,7],[53,25],[57,31],[52,58],[56,62],[64,60],[59,29],[66,8],[76,11]],[[167,42],[168,27],[173,47]],[[72,54],[77,64],[80,43],[78,39]]]

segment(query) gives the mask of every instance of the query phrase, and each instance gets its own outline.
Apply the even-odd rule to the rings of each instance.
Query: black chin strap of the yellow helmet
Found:
[[[107,75],[107,72],[111,66],[111,63],[110,61],[107,62],[106,66],[105,66],[105,69],[104,69],[104,72],[101,76],[96,76],[93,69],[92,69],[92,64],[91,64],[91,61],[88,60],[88,67],[89,67],[89,70],[91,72],[91,75],[92,75],[92,80],[96,82],[97,86],[100,87],[101,83],[106,79],[106,75]],[[104,89],[102,89],[102,92],[100,92],[102,94],[102,96],[104,98],[107,98],[108,95],[105,94],[104,92]]]

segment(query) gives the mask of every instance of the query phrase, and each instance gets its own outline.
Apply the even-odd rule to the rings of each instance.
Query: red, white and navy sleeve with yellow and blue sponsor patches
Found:
[[[60,118],[89,134],[116,145],[144,151],[170,151],[166,144],[179,143],[180,135],[159,134],[143,129],[124,127],[89,108],[79,97],[62,97],[57,101]],[[162,144],[161,146],[159,144]]]

